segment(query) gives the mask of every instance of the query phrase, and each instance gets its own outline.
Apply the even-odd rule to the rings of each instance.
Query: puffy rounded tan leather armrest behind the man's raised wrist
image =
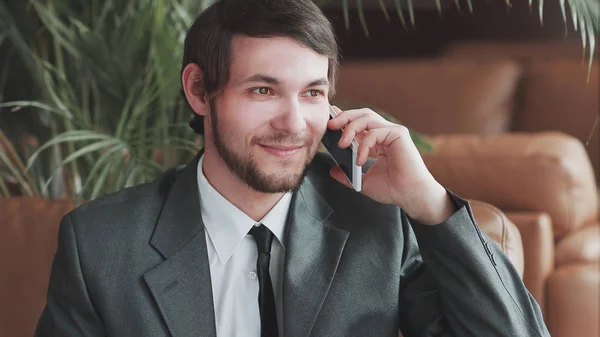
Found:
[[[503,211],[548,213],[555,238],[597,221],[598,194],[583,143],[558,132],[428,137],[423,159],[463,198]]]

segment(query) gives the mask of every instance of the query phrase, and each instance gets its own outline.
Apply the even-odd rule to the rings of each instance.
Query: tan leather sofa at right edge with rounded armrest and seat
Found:
[[[598,337],[598,194],[581,142],[555,132],[431,141],[425,160],[442,184],[496,205],[519,227],[523,280],[552,336]]]

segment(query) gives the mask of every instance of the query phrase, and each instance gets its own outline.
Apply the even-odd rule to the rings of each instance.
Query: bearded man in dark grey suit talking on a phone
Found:
[[[182,86],[205,148],[65,216],[36,336],[549,336],[405,127],[328,121],[337,65],[310,0],[203,12]],[[317,154],[326,128],[374,158],[361,193]]]

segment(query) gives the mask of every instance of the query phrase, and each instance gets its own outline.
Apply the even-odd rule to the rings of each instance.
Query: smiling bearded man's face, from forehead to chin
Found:
[[[212,104],[212,142],[253,189],[296,189],[329,119],[328,58],[290,38],[234,37],[230,77]]]

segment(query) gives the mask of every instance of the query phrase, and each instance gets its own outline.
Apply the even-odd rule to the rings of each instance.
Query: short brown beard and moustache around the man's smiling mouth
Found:
[[[312,138],[308,136],[290,135],[288,133],[277,133],[258,137],[252,140],[252,145],[266,144],[303,144],[308,153],[303,166],[295,170],[291,165],[284,165],[279,173],[268,174],[260,168],[251,151],[242,152],[243,146],[235,146],[235,142],[227,141],[224,132],[219,128],[217,112],[214,101],[210,104],[211,131],[213,143],[219,156],[225,165],[250,188],[262,193],[285,193],[296,191],[302,184],[302,180],[308,172],[309,165],[314,158],[318,148],[313,146]],[[226,137],[226,136],[225,136]],[[285,163],[287,164],[287,163]],[[290,167],[287,167],[290,166]]]

